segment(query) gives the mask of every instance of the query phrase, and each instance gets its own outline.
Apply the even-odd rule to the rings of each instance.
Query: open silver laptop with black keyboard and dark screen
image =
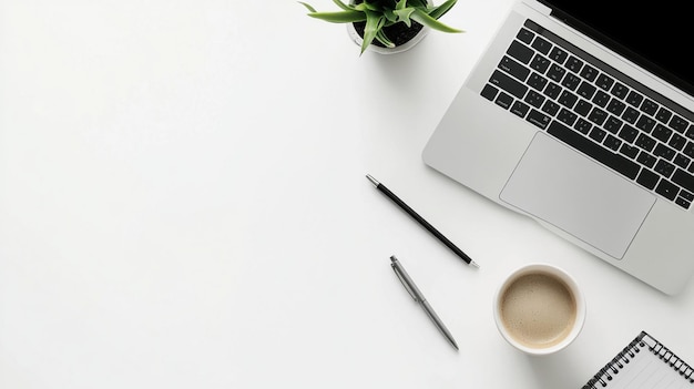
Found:
[[[517,1],[425,163],[664,294],[682,291],[694,273],[685,7]]]

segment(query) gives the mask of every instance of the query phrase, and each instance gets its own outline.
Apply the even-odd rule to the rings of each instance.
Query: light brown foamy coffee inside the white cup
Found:
[[[576,301],[569,287],[547,273],[524,274],[500,297],[500,316],[507,331],[532,348],[552,347],[570,332]]]

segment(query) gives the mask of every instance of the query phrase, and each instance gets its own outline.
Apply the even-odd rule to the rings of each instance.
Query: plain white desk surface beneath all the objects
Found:
[[[663,295],[421,162],[511,1],[359,57],[290,0],[0,0],[0,388],[579,388],[642,329],[694,361],[694,285]],[[491,314],[530,262],[588,298],[547,358]]]

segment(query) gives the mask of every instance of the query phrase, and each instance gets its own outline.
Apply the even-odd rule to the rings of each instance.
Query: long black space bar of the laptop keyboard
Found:
[[[635,162],[621,154],[610,152],[602,145],[584,137],[560,122],[552,121],[547,132],[631,180],[636,178],[636,175],[639,174],[639,170],[641,167]]]

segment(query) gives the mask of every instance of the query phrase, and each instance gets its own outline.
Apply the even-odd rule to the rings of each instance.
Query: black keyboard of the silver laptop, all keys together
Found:
[[[481,95],[688,209],[694,113],[528,20]]]

